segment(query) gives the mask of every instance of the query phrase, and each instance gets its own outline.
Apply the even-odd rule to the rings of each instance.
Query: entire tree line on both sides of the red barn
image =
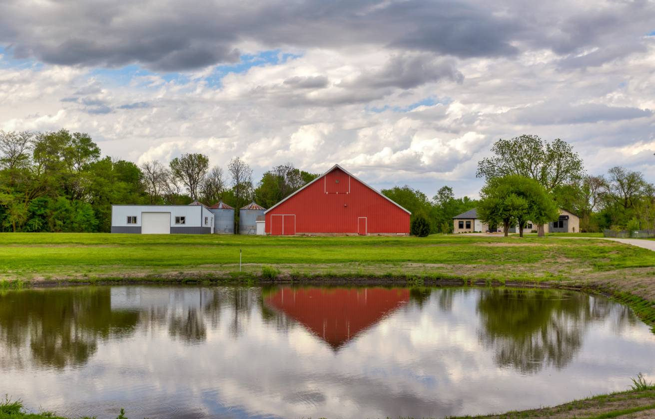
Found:
[[[558,207],[580,216],[581,231],[655,228],[655,186],[642,173],[612,167],[589,175],[570,144],[536,135],[500,139],[492,154],[477,166],[486,181],[481,199],[455,197],[449,186],[432,198],[407,185],[381,192],[412,212],[412,231],[421,235],[451,233],[453,217],[476,207],[487,222],[519,229],[554,220]],[[86,133],[0,131],[0,231],[109,231],[112,204],[198,200],[238,209],[254,200],[270,208],[318,177],[291,163],[272,167],[256,184],[252,173],[239,157],[225,171],[193,153],[168,165],[136,165],[102,157]]]

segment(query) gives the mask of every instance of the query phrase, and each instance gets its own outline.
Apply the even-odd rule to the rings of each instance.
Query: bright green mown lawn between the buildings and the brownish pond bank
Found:
[[[481,277],[552,278],[569,271],[655,266],[655,252],[596,240],[433,235],[419,237],[263,237],[0,233],[0,278],[67,279],[246,271],[279,265],[301,273],[441,272]],[[409,268],[408,268],[409,267]],[[477,275],[477,274],[476,274]]]

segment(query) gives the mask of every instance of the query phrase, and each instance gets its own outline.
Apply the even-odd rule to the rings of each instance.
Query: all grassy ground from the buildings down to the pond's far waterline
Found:
[[[0,288],[124,280],[527,283],[600,290],[655,324],[655,252],[605,240],[0,233],[0,255]]]

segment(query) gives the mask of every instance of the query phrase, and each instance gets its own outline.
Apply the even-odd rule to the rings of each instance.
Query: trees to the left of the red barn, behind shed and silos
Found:
[[[113,204],[206,205],[236,209],[250,201],[269,208],[318,175],[287,163],[253,184],[239,157],[227,171],[204,154],[187,153],[168,165],[137,165],[102,157],[86,133],[0,131],[0,231],[107,232]],[[235,211],[238,225],[238,211]]]

